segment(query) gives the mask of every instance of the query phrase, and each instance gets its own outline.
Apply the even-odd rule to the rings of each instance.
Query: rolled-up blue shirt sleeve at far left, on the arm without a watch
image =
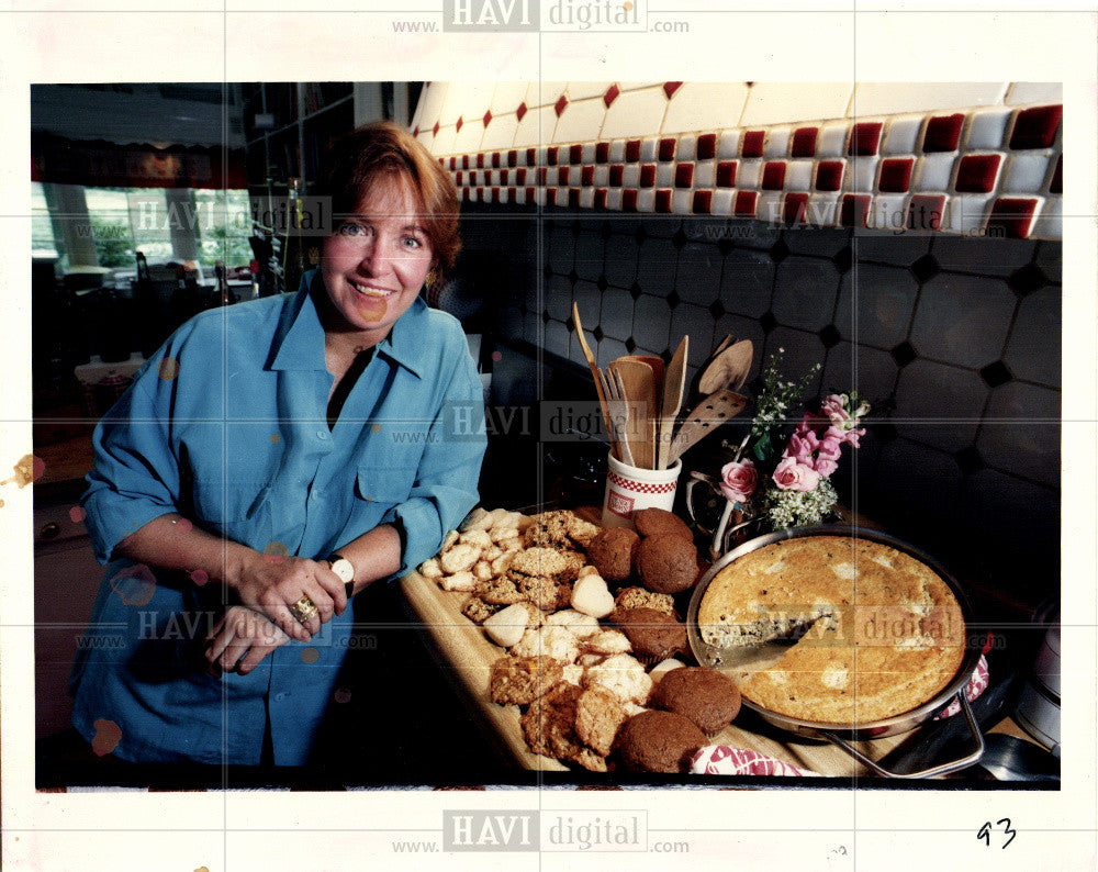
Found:
[[[170,392],[157,390],[146,366],[92,436],[94,467],[82,499],[86,525],[101,563],[114,547],[179,503],[180,474],[168,438]]]

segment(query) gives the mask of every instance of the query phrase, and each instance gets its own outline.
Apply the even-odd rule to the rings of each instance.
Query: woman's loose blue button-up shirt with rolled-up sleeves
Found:
[[[306,275],[298,294],[184,324],[96,429],[85,496],[101,562],[154,518],[179,512],[271,555],[326,557],[394,524],[405,572],[477,501],[485,447],[480,379],[456,318],[422,300],[394,324],[329,429],[333,377]],[[175,366],[161,366],[171,360]],[[128,760],[257,763],[270,716],[274,761],[301,764],[329,704],[351,608],[248,675],[210,678],[201,647],[225,591],[110,563],[74,669],[74,725],[122,733]],[[109,636],[111,640],[101,637]]]

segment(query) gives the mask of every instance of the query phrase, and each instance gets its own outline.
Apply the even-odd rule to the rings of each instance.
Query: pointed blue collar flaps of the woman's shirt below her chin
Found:
[[[318,269],[302,277],[301,290],[282,311],[272,344],[270,369],[326,370],[324,360],[324,327],[313,302],[310,288],[321,290]],[[422,298],[412,301],[408,310],[397,318],[389,335],[377,345],[377,353],[404,367],[417,378],[423,378],[425,366],[423,336],[429,329],[429,311]]]

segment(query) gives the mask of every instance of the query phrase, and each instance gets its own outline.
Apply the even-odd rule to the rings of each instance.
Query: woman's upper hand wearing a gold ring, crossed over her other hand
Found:
[[[227,582],[242,603],[261,612],[299,641],[307,641],[320,631],[321,624],[334,615],[341,615],[347,607],[344,583],[326,561],[248,550],[228,573]],[[303,624],[291,611],[302,596],[307,596],[316,606],[316,614]]]

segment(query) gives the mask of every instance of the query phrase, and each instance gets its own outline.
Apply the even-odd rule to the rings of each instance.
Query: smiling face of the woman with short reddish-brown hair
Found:
[[[336,232],[324,242],[321,275],[339,333],[365,345],[389,335],[423,287],[434,251],[415,214],[410,182],[382,172]]]

